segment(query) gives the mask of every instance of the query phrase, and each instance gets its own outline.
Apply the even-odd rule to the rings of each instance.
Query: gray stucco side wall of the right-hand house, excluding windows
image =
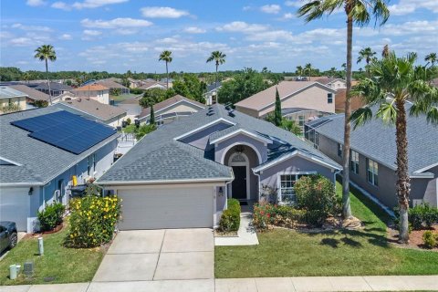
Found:
[[[338,143],[328,137],[319,134],[318,150],[326,154],[332,160],[342,164],[342,159],[338,156]],[[352,149],[354,151],[354,149]],[[438,176],[438,167],[430,172]],[[397,205],[396,183],[397,175],[394,170],[379,163],[379,185],[375,186],[367,180],[367,157],[359,153],[359,173],[349,172],[351,182],[358,184],[362,189],[378,198],[381,203],[389,207]],[[424,200],[425,202],[436,205],[436,191],[433,194],[433,182],[431,179],[411,179],[411,203],[413,200]],[[436,184],[435,184],[436,185]],[[427,193],[426,193],[427,191]]]

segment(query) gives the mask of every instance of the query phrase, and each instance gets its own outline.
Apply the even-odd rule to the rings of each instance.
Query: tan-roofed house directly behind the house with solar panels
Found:
[[[70,99],[57,103],[56,107],[81,115],[89,120],[99,121],[114,128],[121,126],[121,121],[126,116],[126,110],[100,103],[94,99]]]

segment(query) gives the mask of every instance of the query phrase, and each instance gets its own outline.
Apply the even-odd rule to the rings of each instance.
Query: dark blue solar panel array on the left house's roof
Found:
[[[11,124],[30,131],[29,137],[74,154],[88,150],[117,132],[110,126],[87,120],[66,110],[16,120]]]

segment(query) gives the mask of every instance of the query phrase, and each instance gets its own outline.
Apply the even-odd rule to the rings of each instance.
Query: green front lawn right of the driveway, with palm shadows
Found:
[[[337,189],[341,191],[338,183]],[[351,190],[360,231],[309,235],[276,229],[258,234],[260,245],[216,246],[216,277],[436,275],[438,253],[401,249],[386,241],[389,220],[379,207]]]

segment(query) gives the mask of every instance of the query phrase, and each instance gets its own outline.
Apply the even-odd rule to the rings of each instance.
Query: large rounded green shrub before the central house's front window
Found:
[[[315,174],[303,176],[294,186],[297,208],[306,211],[307,224],[320,226],[329,214],[339,212],[339,200],[335,186],[326,177]]]

